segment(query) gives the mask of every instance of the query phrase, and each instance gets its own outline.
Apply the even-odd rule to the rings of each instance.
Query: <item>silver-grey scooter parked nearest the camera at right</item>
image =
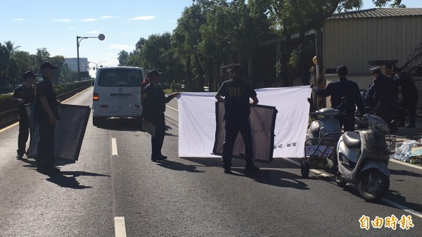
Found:
[[[376,201],[390,187],[388,161],[396,139],[388,134],[388,125],[381,117],[366,114],[360,120],[368,130],[345,132],[338,140],[335,181],[342,187],[347,183],[358,185],[364,199]]]

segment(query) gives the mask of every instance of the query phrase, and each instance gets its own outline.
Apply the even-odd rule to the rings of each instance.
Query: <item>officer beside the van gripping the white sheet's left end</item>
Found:
[[[165,96],[160,87],[160,75],[162,72],[155,69],[148,72],[150,82],[142,91],[143,122],[146,124],[151,122],[155,126],[155,136],[151,136],[152,161],[167,159],[167,156],[161,153],[165,135],[165,104],[179,95],[175,92],[170,96]]]

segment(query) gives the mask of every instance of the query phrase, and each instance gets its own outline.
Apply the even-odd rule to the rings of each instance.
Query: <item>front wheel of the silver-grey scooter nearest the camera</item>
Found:
[[[378,169],[365,170],[359,180],[359,193],[369,201],[380,200],[390,188],[390,179]]]

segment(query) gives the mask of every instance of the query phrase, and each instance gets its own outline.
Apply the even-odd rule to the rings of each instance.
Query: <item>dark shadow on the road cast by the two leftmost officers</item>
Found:
[[[70,177],[66,175],[70,175]],[[95,174],[95,173],[83,172],[83,171],[62,171],[58,174],[49,175],[49,178],[46,180],[53,184],[57,184],[58,186],[63,187],[63,188],[74,188],[74,189],[92,188],[91,186],[80,185],[79,181],[77,181],[76,179],[79,176],[110,177],[110,175],[106,175],[106,174]]]

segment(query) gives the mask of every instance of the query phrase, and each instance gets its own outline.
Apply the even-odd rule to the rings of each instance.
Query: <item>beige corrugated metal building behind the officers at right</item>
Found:
[[[322,38],[327,82],[334,79],[330,73],[345,64],[347,78],[367,89],[372,82],[369,68],[388,61],[398,67],[407,64],[404,70],[421,79],[422,8],[373,8],[336,14],[326,20]]]

